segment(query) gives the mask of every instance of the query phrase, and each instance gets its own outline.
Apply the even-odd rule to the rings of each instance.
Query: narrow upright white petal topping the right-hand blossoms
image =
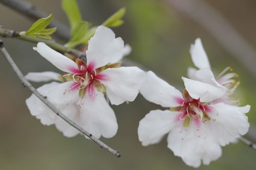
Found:
[[[204,47],[200,38],[196,39],[195,44],[191,44],[190,55],[196,67],[198,67],[199,69],[210,69],[210,63],[204,51]]]

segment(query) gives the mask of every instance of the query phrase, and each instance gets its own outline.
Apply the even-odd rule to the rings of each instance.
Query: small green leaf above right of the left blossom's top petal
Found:
[[[118,27],[121,26],[123,23],[123,20],[121,19],[123,15],[125,14],[125,8],[119,9],[117,12],[115,12],[113,15],[111,15],[106,21],[102,23],[103,26],[106,27]]]

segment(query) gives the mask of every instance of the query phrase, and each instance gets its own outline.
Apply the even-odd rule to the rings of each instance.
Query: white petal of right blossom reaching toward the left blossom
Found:
[[[162,107],[176,107],[182,104],[179,102],[183,99],[181,92],[157,77],[152,71],[147,72],[146,81],[142,84],[140,93],[146,100]]]

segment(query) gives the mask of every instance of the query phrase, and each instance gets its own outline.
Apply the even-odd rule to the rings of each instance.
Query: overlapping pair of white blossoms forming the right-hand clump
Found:
[[[140,121],[139,140],[142,145],[158,143],[168,134],[167,147],[190,166],[198,167],[221,156],[221,146],[236,141],[249,128],[245,113],[250,106],[238,107],[230,98],[238,86],[236,74],[225,72],[214,77],[200,39],[191,45],[195,66],[188,77],[182,77],[181,93],[152,71],[147,72],[140,93],[150,102],[169,110],[152,110]]]

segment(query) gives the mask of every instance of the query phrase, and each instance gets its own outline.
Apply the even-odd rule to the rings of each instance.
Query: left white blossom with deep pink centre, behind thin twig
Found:
[[[113,137],[118,126],[114,111],[106,102],[104,93],[113,105],[134,101],[145,80],[144,71],[138,67],[121,67],[118,62],[130,53],[131,47],[124,46],[120,37],[115,38],[112,30],[100,26],[89,41],[87,62],[81,59],[74,62],[42,42],[34,50],[66,74],[60,77],[50,71],[34,72],[26,78],[36,82],[66,81],[46,84],[38,88],[38,91],[46,95],[50,102],[76,124],[97,138],[101,135]],[[53,115],[34,95],[26,103],[31,114],[39,118],[42,124],[55,124],[68,137],[78,134],[77,130]]]

